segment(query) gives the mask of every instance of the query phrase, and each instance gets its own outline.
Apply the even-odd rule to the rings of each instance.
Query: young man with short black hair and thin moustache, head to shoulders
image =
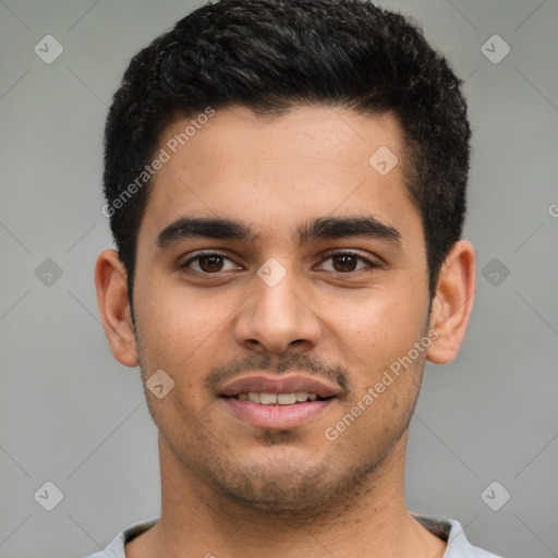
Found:
[[[460,85],[361,0],[222,0],[134,57],[95,279],[162,507],[94,556],[494,556],[404,500],[425,363],[473,304]]]

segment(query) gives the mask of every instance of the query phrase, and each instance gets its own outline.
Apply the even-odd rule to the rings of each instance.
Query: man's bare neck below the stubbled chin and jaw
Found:
[[[312,510],[250,509],[184,470],[159,437],[159,522],[126,545],[128,558],[318,558],[325,555],[439,558],[446,544],[409,515],[404,504],[407,432],[351,490]]]

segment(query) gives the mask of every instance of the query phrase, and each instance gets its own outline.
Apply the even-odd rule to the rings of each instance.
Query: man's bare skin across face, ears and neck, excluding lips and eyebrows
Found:
[[[160,147],[186,124],[173,122]],[[399,158],[387,175],[368,162],[380,146]],[[135,330],[117,253],[102,252],[95,272],[116,359],[140,364],[144,380],[163,369],[174,381],[162,399],[146,389],[159,429],[161,519],[126,545],[129,557],[442,556],[446,543],[405,507],[408,426],[426,360],[447,363],[459,350],[475,259],[469,242],[454,244],[428,313],[424,233],[403,165],[389,114],[295,107],[258,118],[234,107],[217,111],[157,172],[137,238]],[[184,215],[236,219],[255,236],[158,246],[161,230]],[[369,215],[401,241],[293,238],[315,218]],[[201,250],[229,259],[180,267]],[[377,266],[328,258],[342,251]],[[286,270],[275,287],[257,275],[271,257]],[[328,439],[325,430],[428,332],[437,336],[429,347]],[[300,426],[254,426],[216,396],[220,378],[250,366],[336,378],[339,397]]]

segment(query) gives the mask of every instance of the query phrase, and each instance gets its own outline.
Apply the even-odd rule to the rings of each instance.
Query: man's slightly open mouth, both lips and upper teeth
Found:
[[[219,395],[228,412],[243,423],[290,429],[324,414],[338,399],[340,389],[304,375],[258,374],[235,379]]]

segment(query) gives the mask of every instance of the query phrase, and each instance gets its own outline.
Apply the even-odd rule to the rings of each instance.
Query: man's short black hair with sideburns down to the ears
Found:
[[[163,129],[208,107],[281,114],[295,105],[397,119],[432,301],[465,215],[471,129],[461,88],[415,22],[366,0],[220,0],[196,9],[134,56],[107,118],[104,213],[131,304],[146,166]]]

